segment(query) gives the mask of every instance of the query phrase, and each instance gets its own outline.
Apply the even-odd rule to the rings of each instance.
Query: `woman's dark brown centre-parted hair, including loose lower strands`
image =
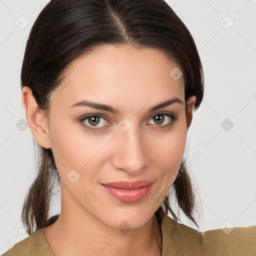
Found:
[[[159,49],[181,68],[185,101],[196,96],[195,109],[203,97],[203,70],[194,40],[164,0],[51,0],[36,18],[25,48],[21,88],[29,86],[39,107],[48,113],[50,93],[61,81],[68,65],[88,49],[104,44],[129,43]],[[185,104],[187,114],[187,106]],[[26,194],[21,220],[27,233],[52,223],[49,207],[54,186],[60,185],[51,148],[38,148],[38,172]],[[194,192],[183,162],[172,185],[177,203],[194,219]],[[169,193],[155,214],[169,211]],[[57,215],[55,215],[57,216]],[[54,219],[53,219],[54,220]]]

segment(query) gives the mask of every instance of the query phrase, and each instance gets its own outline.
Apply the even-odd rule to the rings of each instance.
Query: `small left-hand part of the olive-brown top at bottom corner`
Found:
[[[41,229],[37,229],[28,235],[25,239],[15,243],[2,256],[33,256],[48,255],[54,256],[49,250]]]

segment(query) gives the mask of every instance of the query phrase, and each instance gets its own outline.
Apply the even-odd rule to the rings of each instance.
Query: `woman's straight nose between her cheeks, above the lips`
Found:
[[[115,135],[115,150],[112,164],[116,169],[123,169],[131,175],[139,174],[149,164],[148,147],[133,125],[127,130],[118,130]]]

